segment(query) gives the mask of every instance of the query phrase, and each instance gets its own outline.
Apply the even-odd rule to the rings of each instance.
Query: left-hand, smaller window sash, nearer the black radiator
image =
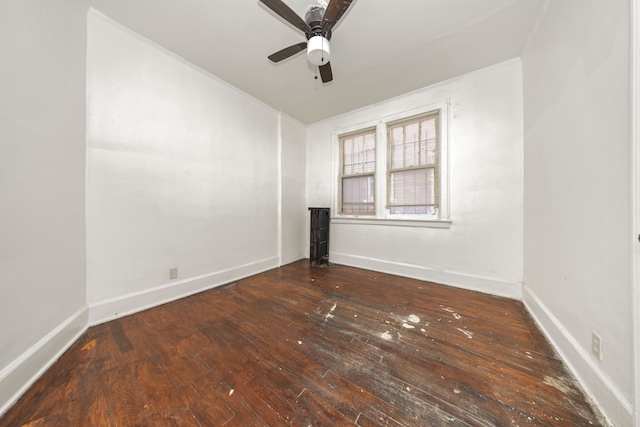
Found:
[[[375,129],[341,136],[340,152],[340,213],[375,214]]]

